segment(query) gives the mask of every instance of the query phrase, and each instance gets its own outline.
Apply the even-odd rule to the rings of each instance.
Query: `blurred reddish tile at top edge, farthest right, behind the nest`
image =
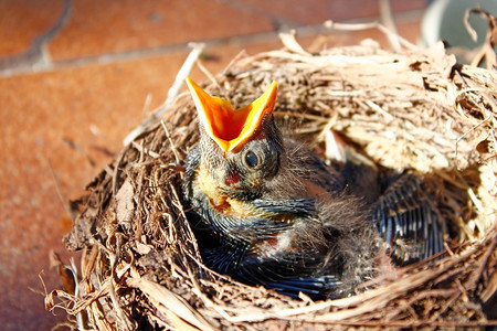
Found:
[[[240,0],[257,12],[264,12],[290,25],[319,24],[326,20],[345,21],[378,17],[378,0]],[[424,0],[392,0],[393,12],[423,9]]]

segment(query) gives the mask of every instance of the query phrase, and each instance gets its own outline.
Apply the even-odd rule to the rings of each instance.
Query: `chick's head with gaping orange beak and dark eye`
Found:
[[[187,84],[199,116],[201,167],[213,184],[250,199],[277,173],[283,153],[282,135],[273,117],[276,82],[239,109],[210,96],[190,78]]]

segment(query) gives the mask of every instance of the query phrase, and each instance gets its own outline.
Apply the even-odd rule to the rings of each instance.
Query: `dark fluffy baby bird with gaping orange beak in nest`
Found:
[[[378,274],[443,249],[438,213],[421,181],[352,161],[330,167],[283,139],[277,85],[234,110],[187,79],[200,141],[183,193],[204,264],[248,285],[297,297],[339,298]]]

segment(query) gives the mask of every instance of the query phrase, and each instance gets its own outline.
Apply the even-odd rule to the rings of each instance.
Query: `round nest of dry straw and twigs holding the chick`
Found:
[[[276,81],[276,120],[319,156],[331,129],[378,166],[419,173],[446,221],[446,250],[361,285],[359,295],[316,302],[209,270],[180,189],[199,140],[182,93],[72,202],[65,243],[82,252],[81,267],[59,261],[64,289],[46,296],[47,309],[65,309],[82,330],[496,322],[496,72],[457,65],[442,46],[389,52],[369,42],[310,54],[292,36],[284,43],[241,54],[202,87],[239,107]]]

